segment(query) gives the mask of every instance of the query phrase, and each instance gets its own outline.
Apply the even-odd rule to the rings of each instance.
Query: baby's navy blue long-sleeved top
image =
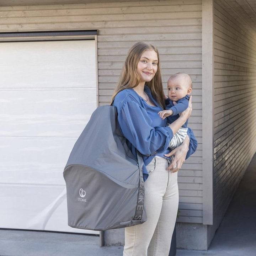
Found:
[[[173,114],[171,116],[166,117],[168,123],[172,123],[175,120],[177,120],[180,117],[179,113],[181,113],[187,109],[189,98],[190,98],[190,96],[186,95],[185,97],[178,100],[176,105],[174,105],[173,101],[170,98],[167,98],[165,100],[165,105],[166,105],[165,109],[173,111]],[[187,119],[186,123],[183,124],[182,127],[187,128],[187,124],[188,124],[188,119]]]

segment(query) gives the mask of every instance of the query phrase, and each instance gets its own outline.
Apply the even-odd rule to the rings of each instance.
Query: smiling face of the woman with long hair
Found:
[[[154,50],[145,50],[138,62],[137,72],[140,84],[145,84],[153,79],[158,69],[158,56]]]

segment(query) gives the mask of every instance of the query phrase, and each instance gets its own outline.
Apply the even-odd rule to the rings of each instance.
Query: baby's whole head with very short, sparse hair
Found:
[[[186,73],[176,73],[167,82],[168,97],[172,101],[178,101],[186,95],[191,94],[192,79]]]

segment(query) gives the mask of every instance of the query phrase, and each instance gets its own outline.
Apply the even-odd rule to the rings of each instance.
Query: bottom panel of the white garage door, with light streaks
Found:
[[[0,185],[0,190],[1,228],[98,233],[68,226],[64,186]]]

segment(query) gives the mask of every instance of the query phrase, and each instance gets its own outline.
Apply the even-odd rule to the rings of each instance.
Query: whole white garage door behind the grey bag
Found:
[[[0,43],[0,228],[67,225],[63,169],[96,108],[95,41]]]

